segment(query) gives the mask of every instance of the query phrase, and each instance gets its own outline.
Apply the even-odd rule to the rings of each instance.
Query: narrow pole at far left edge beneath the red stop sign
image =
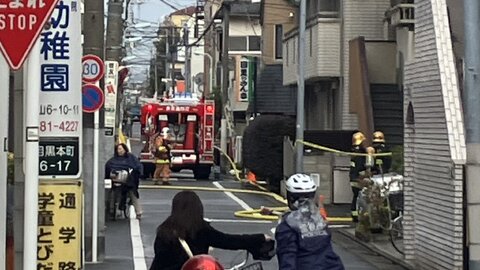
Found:
[[[9,94],[9,75],[10,68],[8,67],[5,58],[0,55],[0,89],[4,91],[3,99],[1,99],[0,104],[0,127],[8,127],[8,94]],[[7,231],[7,155],[8,155],[8,145],[7,145],[7,136],[8,128],[0,129],[0,268],[5,267],[6,265],[6,252],[5,252],[5,243],[6,243],[6,231]]]

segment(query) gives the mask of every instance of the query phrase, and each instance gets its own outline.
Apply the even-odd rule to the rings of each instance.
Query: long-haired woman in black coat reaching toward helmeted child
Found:
[[[193,255],[208,254],[209,247],[245,249],[254,258],[273,250],[273,240],[264,234],[226,234],[214,229],[203,217],[203,205],[193,191],[181,191],[172,201],[170,216],[157,228],[150,270],[180,270],[189,259],[181,242]]]

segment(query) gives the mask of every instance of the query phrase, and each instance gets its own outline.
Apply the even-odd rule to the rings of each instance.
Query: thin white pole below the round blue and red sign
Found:
[[[95,83],[99,86],[99,83]],[[100,112],[93,113],[93,202],[92,202],[92,262],[97,262],[98,236],[98,148],[100,136]]]

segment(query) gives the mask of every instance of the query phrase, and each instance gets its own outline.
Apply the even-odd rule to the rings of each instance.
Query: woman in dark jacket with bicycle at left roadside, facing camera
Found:
[[[113,181],[120,171],[127,171],[129,176],[121,188],[121,200],[119,208],[123,210],[126,206],[127,196],[130,197],[137,218],[142,217],[142,207],[140,205],[140,194],[138,193],[138,185],[140,183],[140,175],[143,174],[143,166],[136,156],[128,150],[124,143],[115,146],[115,154],[105,164],[105,178],[111,178]]]

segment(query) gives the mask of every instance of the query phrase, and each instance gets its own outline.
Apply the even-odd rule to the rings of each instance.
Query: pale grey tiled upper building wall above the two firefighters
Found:
[[[358,36],[365,40],[382,40],[384,37],[383,17],[390,8],[389,0],[344,0],[342,38],[342,129],[356,129],[357,117],[350,113],[349,46],[348,42]]]

